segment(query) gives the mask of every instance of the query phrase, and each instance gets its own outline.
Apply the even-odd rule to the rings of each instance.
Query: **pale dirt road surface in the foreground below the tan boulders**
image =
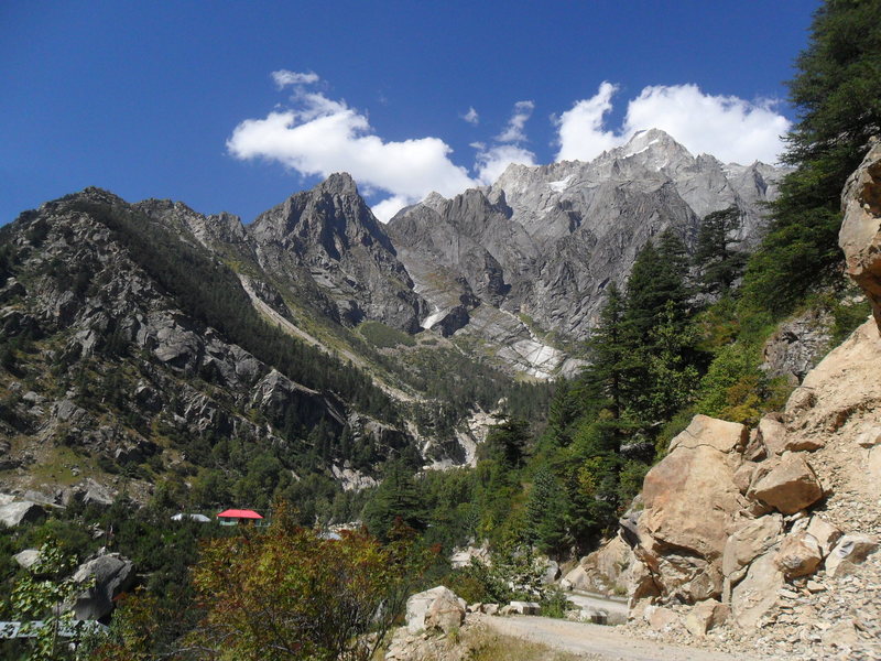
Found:
[[[664,644],[630,638],[614,627],[570,622],[547,617],[479,616],[490,629],[551,646],[558,650],[584,654],[591,661],[747,661],[722,652]]]

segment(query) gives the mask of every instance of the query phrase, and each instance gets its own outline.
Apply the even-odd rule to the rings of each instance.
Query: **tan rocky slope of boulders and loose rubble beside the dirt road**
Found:
[[[839,240],[874,302],[880,167],[875,143],[845,188]],[[568,583],[627,590],[638,635],[881,658],[880,328],[866,322],[753,430],[696,416],[646,475],[619,537]]]

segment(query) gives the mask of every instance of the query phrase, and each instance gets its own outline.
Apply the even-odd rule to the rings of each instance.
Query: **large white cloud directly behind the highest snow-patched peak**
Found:
[[[605,117],[616,91],[614,85],[603,83],[594,97],[577,101],[559,117],[557,160],[588,161],[637,131],[656,128],[694,154],[709,153],[726,163],[774,163],[783,151],[780,137],[790,128],[773,101],[707,95],[697,85],[659,85],[631,99],[622,126],[611,130]]]

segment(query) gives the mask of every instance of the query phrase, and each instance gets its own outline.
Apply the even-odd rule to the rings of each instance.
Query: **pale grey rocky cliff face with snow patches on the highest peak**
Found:
[[[516,337],[521,367],[548,373],[565,356],[541,329],[583,339],[606,286],[622,285],[639,250],[666,229],[690,247],[704,216],[736,206],[740,240],[754,245],[761,203],[783,174],[695,158],[651,130],[589,163],[511,165],[490,187],[434,194],[388,232],[432,306],[423,326],[445,323],[490,344]]]

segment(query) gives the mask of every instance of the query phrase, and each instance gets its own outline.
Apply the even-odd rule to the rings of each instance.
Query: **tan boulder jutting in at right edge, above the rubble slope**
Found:
[[[875,141],[841,193],[838,246],[846,272],[866,292],[881,327],[881,142]]]

